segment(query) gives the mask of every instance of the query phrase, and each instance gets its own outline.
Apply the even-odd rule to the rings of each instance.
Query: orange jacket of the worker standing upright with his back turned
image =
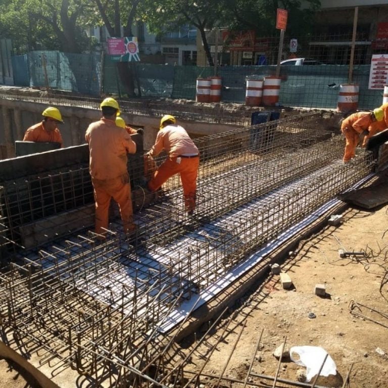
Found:
[[[114,120],[102,118],[91,123],[85,133],[89,144],[89,171],[94,179],[113,179],[128,172],[127,153],[136,152],[136,143]]]

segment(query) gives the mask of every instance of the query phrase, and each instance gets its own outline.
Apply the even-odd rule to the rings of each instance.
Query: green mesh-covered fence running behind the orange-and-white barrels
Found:
[[[102,64],[104,65],[102,66]],[[12,58],[16,86],[69,90],[92,96],[101,93],[133,97],[120,80],[116,63],[100,54],[31,52]],[[134,93],[139,98],[196,99],[196,80],[214,75],[214,67],[132,63]],[[380,106],[383,90],[369,90],[369,65],[355,65],[352,81],[359,85],[359,109]],[[221,101],[244,103],[247,78],[276,73],[275,65],[218,66]],[[280,67],[279,105],[335,109],[340,84],[348,83],[348,65]]]

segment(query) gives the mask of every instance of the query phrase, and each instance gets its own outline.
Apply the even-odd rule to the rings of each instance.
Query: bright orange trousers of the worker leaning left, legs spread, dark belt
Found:
[[[180,159],[180,163],[177,163]],[[184,206],[188,212],[196,208],[197,176],[200,157],[167,158],[155,171],[154,177],[148,182],[148,187],[156,191],[175,174],[180,175],[183,187]]]

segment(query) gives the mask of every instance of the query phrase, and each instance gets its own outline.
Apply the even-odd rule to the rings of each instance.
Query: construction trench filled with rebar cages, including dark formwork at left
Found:
[[[0,354],[42,387],[186,387],[199,386],[204,376],[214,386],[245,387],[248,380],[259,386],[251,368],[243,380],[203,373],[215,348],[197,373],[186,366],[233,301],[220,297],[223,290],[250,271],[259,276],[301,230],[327,220],[339,193],[373,179],[376,155],[362,151],[344,165],[344,139],[317,128],[320,117],[305,112],[196,138],[201,162],[193,217],[184,211],[179,177],[153,195],[143,191],[136,135],[128,169],[138,229],[130,240],[115,206],[105,242],[91,231],[86,145],[0,161],[7,267],[0,275]],[[385,154],[380,147],[380,161]],[[216,298],[217,308],[202,313]],[[186,357],[174,359],[175,344],[204,322],[209,330]],[[313,386],[278,373],[266,378],[268,386]]]

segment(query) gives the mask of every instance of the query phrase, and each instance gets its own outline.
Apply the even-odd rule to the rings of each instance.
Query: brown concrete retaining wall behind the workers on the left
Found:
[[[31,103],[20,100],[0,100],[0,147],[3,148],[3,159],[15,156],[15,141],[23,140],[28,127],[41,121],[41,113],[47,104]],[[65,124],[60,125],[64,147],[79,146],[85,143],[85,131],[88,125],[99,120],[101,112],[89,108],[57,106]],[[160,117],[139,116],[123,113],[125,122],[134,128],[144,129],[144,150],[154,144],[159,130]],[[207,134],[220,133],[233,128],[227,124],[209,124],[178,120],[190,136],[199,137]]]

